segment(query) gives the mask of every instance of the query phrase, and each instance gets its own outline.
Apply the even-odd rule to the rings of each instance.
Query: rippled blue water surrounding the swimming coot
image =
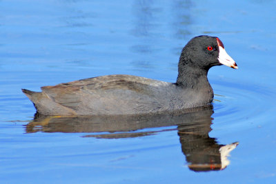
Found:
[[[3,0],[0,6],[0,183],[276,182],[275,1]],[[219,37],[239,66],[209,71],[213,112],[207,110],[207,121],[191,121],[212,129],[203,133],[213,146],[239,142],[223,170],[191,170],[182,150],[191,142],[180,141],[187,137],[170,119],[141,127],[126,121],[119,129],[75,119],[32,124],[35,109],[21,88],[105,74],[175,82],[181,48],[201,34]]]

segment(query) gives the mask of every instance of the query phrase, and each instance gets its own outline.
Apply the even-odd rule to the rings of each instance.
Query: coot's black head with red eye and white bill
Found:
[[[181,52],[179,68],[208,70],[215,65],[237,68],[235,61],[224,50],[224,44],[217,37],[199,36],[191,39]]]

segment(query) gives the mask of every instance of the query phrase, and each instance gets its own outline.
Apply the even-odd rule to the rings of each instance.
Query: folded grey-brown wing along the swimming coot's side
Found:
[[[139,76],[109,75],[46,86],[50,98],[77,114],[136,114],[166,107],[166,89],[172,83]]]

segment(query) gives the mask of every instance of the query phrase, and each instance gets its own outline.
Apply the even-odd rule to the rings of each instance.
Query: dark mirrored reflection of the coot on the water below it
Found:
[[[212,105],[184,112],[163,114],[116,116],[41,116],[36,114],[34,121],[26,125],[26,132],[92,132],[94,134],[84,137],[123,139],[177,130],[181,150],[186,156],[190,170],[196,172],[223,170],[230,163],[227,158],[229,153],[238,143],[219,145],[215,138],[209,136],[208,133],[212,130],[210,127],[213,120],[212,114]],[[164,128],[158,131],[148,131],[148,129],[143,131],[151,127]]]

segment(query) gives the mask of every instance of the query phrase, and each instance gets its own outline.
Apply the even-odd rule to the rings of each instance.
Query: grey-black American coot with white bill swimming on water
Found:
[[[142,114],[208,105],[213,89],[207,79],[215,65],[237,69],[217,37],[199,36],[183,48],[176,83],[115,74],[55,86],[42,92],[22,89],[45,115]]]

